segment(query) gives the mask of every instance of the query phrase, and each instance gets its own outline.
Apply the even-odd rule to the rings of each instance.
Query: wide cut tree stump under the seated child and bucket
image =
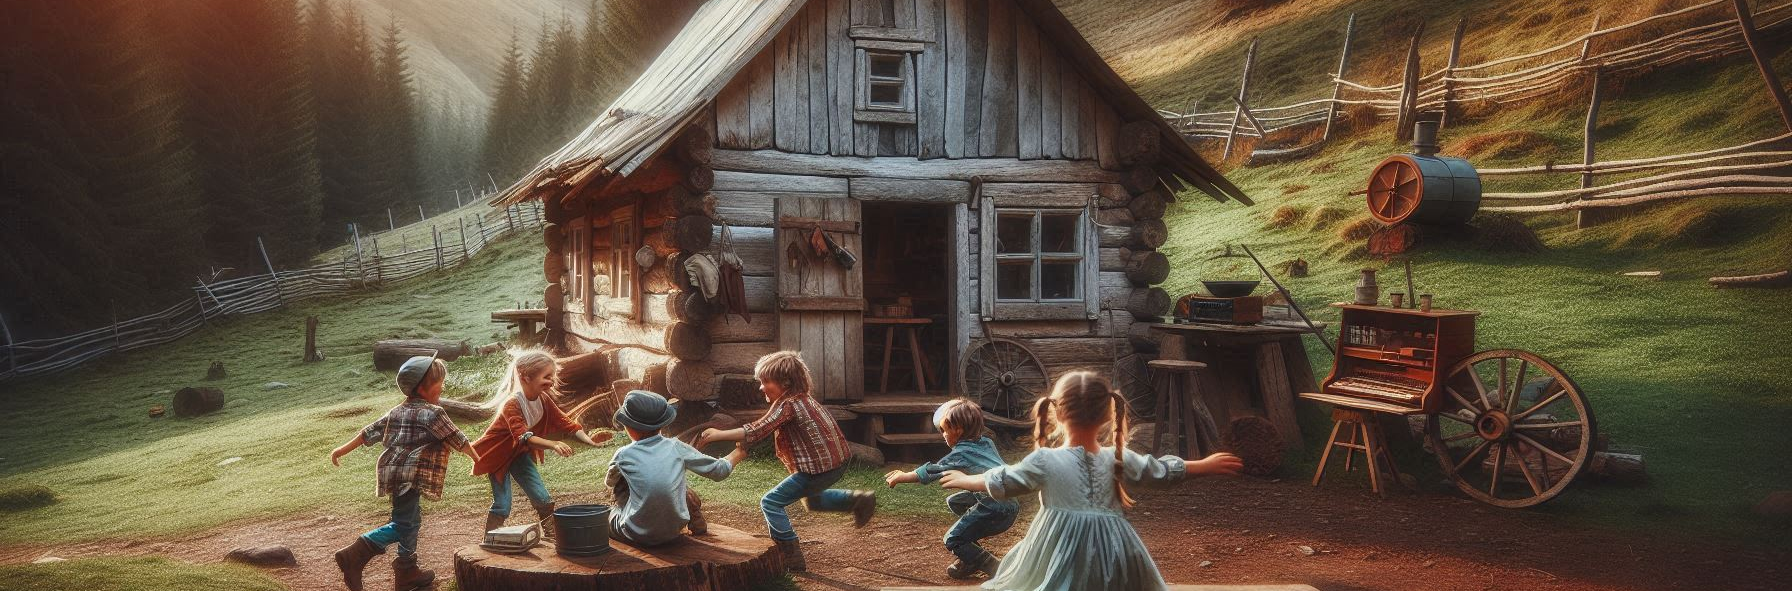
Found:
[[[634,548],[609,541],[615,552],[563,557],[552,544],[525,553],[493,553],[468,544],[453,555],[461,591],[597,591],[597,589],[747,589],[783,573],[783,555],[771,539],[710,523],[710,534],[685,535],[663,546]]]

